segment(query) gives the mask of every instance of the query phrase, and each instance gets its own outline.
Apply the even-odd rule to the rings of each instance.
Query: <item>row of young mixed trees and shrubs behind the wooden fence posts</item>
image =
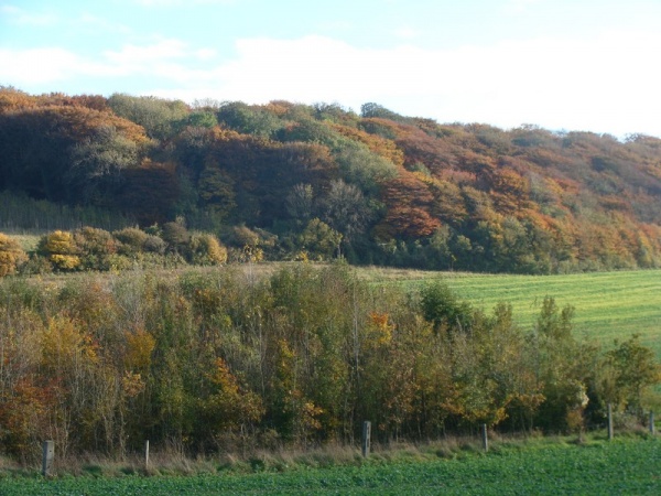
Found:
[[[90,273],[0,282],[0,450],[195,454],[381,442],[474,430],[576,431],[606,403],[640,416],[660,368],[636,337],[602,352],[552,299],[535,328],[442,285],[404,293],[344,265],[180,277]]]

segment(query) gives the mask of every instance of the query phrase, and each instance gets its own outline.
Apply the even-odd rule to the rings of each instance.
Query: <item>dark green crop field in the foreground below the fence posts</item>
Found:
[[[0,478],[0,494],[218,495],[378,494],[529,495],[661,494],[661,440],[625,438],[585,445],[503,446],[488,454],[424,462],[299,468],[283,473],[194,476]]]

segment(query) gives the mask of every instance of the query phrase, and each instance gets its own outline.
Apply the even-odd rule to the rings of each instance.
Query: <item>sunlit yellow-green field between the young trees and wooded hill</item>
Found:
[[[445,282],[474,306],[490,311],[511,303],[519,324],[532,330],[544,296],[576,309],[575,334],[609,346],[638,333],[661,358],[661,270],[590,272],[563,276],[506,276],[361,269],[375,283],[420,288]]]

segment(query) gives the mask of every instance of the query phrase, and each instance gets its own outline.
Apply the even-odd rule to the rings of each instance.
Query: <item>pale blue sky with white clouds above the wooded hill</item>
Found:
[[[0,0],[0,85],[661,137],[661,0]]]

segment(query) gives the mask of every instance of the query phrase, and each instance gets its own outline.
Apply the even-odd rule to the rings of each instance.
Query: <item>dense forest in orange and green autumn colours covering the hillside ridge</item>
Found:
[[[358,115],[0,87],[0,157],[2,230],[44,230],[47,216],[29,213],[45,204],[108,219],[72,230],[177,224],[267,260],[661,266],[661,140],[649,136],[438,123],[378,104]]]

